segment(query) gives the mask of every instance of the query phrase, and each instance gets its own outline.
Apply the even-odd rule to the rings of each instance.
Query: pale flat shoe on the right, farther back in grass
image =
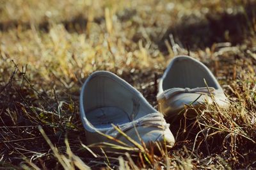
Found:
[[[214,101],[220,107],[229,105],[223,89],[209,68],[189,56],[172,59],[159,82],[159,111],[172,117],[181,114],[186,105],[200,109],[204,108],[205,103],[213,104]]]

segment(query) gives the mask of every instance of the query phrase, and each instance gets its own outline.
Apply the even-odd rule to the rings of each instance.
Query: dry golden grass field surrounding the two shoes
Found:
[[[255,9],[254,0],[0,0],[0,169],[256,168]],[[230,108],[168,120],[170,151],[92,153],[79,119],[86,77],[114,72],[157,108],[157,81],[182,54],[209,66]]]

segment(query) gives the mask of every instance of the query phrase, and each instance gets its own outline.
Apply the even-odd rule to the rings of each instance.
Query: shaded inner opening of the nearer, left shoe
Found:
[[[122,125],[154,112],[141,102],[138,91],[111,73],[90,77],[83,93],[86,119],[96,128],[112,127],[112,123]]]

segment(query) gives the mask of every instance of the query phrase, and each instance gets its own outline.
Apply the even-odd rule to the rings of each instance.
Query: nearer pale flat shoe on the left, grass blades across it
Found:
[[[174,137],[163,115],[141,93],[111,72],[92,73],[80,95],[80,114],[86,131],[86,144],[114,143],[106,135],[134,146],[113,125],[136,143],[159,141],[173,146]],[[138,134],[137,134],[137,132]],[[139,136],[138,136],[139,135]]]

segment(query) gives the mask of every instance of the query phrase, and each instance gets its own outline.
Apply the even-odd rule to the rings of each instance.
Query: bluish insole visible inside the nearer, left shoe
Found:
[[[95,128],[109,128],[114,125],[122,125],[130,121],[126,112],[118,107],[101,107],[86,113],[86,118]]]

